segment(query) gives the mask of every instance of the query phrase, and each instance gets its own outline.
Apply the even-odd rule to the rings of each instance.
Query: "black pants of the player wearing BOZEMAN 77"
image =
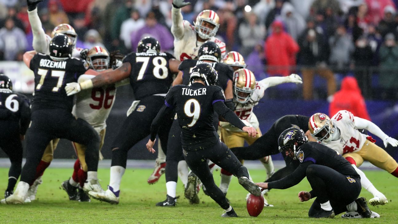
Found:
[[[22,168],[21,181],[34,181],[44,150],[55,138],[85,145],[88,171],[97,171],[100,137],[94,128],[86,121],[74,118],[67,110],[41,109],[32,112],[31,126],[26,132],[26,163]]]

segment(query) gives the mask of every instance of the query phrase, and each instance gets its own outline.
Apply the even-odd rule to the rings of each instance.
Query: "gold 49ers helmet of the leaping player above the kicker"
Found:
[[[210,37],[214,37],[219,30],[220,27],[220,18],[216,12],[213,10],[203,10],[196,17],[196,21],[193,23],[195,26],[195,30],[198,33],[199,37],[202,39],[209,39]],[[204,26],[203,22],[208,22],[214,26],[213,29]]]

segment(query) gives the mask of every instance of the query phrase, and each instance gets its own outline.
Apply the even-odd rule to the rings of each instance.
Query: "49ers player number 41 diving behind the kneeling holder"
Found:
[[[395,159],[378,147],[371,136],[358,131],[358,129],[366,129],[382,139],[385,147],[388,144],[396,147],[398,141],[386,135],[373,122],[355,117],[347,110],[340,110],[332,118],[322,113],[312,115],[308,121],[308,128],[312,137],[343,155],[356,167],[361,166],[363,161],[369,161],[398,177],[398,164]],[[388,202],[386,196],[380,193],[368,179],[361,176],[361,183],[374,196],[369,200],[369,204],[383,205]]]

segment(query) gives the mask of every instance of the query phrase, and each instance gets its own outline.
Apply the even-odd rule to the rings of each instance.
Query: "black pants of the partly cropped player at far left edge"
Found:
[[[7,191],[12,191],[20,177],[22,167],[23,149],[18,121],[0,120],[0,148],[3,149],[11,161],[11,167],[8,171]]]

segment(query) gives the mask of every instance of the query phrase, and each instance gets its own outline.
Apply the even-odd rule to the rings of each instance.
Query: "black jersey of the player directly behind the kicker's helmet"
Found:
[[[198,61],[198,60],[194,60],[194,59],[186,59],[184,61],[181,61],[181,64],[179,65],[178,70],[182,71],[182,73],[183,73],[182,74],[182,84],[183,85],[191,85],[191,82],[189,81],[189,77],[192,73],[192,69],[197,64],[201,64],[201,63],[208,63],[217,71],[217,73],[219,74],[219,77],[218,77],[219,86],[223,90],[225,90],[228,80],[232,80],[234,71],[228,65],[223,64],[223,63],[217,63],[217,62],[205,62],[205,61]]]

